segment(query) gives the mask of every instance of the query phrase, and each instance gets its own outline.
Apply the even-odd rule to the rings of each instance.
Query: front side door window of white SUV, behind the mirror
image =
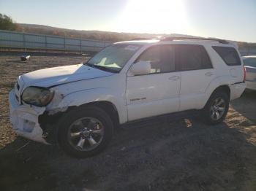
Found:
[[[175,51],[170,45],[157,45],[144,51],[138,61],[151,63],[151,74],[175,71]]]

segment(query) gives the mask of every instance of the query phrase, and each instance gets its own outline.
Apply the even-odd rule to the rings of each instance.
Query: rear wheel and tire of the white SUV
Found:
[[[211,125],[215,125],[219,122],[222,122],[227,115],[229,109],[229,102],[230,99],[227,93],[221,91],[213,93],[211,97],[208,99],[206,106],[204,106],[202,110],[203,120]]]

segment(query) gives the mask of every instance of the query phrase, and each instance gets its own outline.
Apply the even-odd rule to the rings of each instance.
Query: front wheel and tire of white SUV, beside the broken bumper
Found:
[[[72,157],[92,157],[105,149],[113,136],[113,122],[97,106],[73,109],[59,120],[59,146]]]

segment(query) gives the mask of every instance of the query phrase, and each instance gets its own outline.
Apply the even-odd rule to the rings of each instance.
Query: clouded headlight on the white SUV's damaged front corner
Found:
[[[45,87],[26,87],[21,98],[26,104],[46,106],[53,99],[54,92]]]

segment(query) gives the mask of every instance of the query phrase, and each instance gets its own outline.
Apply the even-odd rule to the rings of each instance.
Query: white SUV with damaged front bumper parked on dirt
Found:
[[[114,127],[142,119],[200,111],[222,122],[245,87],[240,55],[225,40],[118,42],[86,63],[18,77],[10,121],[20,136],[89,157],[107,146]]]

